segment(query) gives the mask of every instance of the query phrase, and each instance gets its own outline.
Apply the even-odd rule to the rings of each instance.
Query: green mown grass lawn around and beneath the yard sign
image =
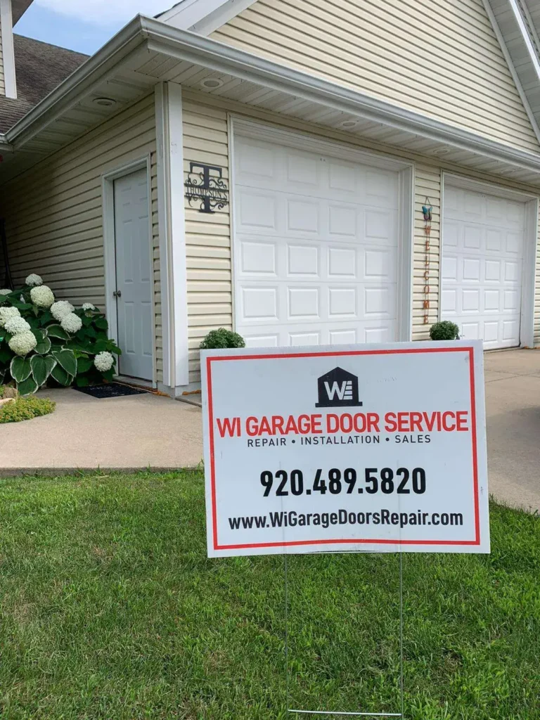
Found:
[[[491,520],[403,557],[408,719],[540,718],[540,519]],[[4,480],[0,522],[2,720],[287,717],[283,559],[207,559],[200,474]],[[400,711],[398,573],[289,557],[290,707]]]

